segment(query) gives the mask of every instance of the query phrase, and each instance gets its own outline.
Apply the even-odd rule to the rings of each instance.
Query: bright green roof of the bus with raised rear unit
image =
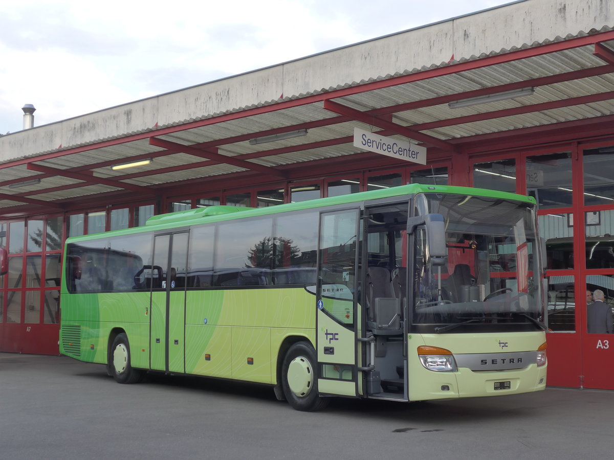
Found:
[[[327,198],[319,198],[309,201],[300,201],[294,203],[279,204],[264,208],[236,207],[229,205],[212,205],[196,209],[188,209],[184,211],[171,212],[150,217],[145,226],[133,227],[130,229],[115,230],[99,234],[84,235],[79,237],[71,237],[73,239],[96,239],[101,235],[112,236],[112,234],[131,234],[142,231],[151,231],[153,229],[174,228],[177,226],[188,226],[197,223],[215,222],[233,220],[235,218],[255,217],[258,215],[269,215],[280,212],[289,212],[294,210],[313,209],[338,204],[350,204],[354,202],[371,201],[375,199],[411,195],[416,193],[446,193],[446,194],[463,194],[473,196],[486,196],[500,198],[512,201],[526,202],[527,204],[535,204],[534,197],[520,195],[516,193],[502,192],[498,190],[489,190],[483,188],[460,187],[449,185],[426,185],[413,183],[401,185],[397,187],[383,188],[381,190],[371,190],[359,193],[352,193],[340,196]]]

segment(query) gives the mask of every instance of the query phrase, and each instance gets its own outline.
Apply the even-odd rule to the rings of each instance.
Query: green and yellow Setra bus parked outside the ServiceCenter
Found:
[[[209,206],[71,237],[60,350],[146,372],[424,401],[546,385],[531,197],[412,184],[260,209]]]

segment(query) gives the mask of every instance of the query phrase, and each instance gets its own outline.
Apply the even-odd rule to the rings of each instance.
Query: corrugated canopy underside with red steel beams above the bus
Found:
[[[376,156],[353,147],[354,127],[411,139],[428,148],[429,158],[495,150],[511,139],[525,145],[545,138],[564,141],[588,129],[593,136],[611,135],[613,71],[614,31],[604,28],[348,83],[0,164],[0,208],[66,209],[79,197],[117,191],[161,196],[203,178],[262,183],[300,177],[312,161]],[[522,88],[535,91],[479,105],[448,105]],[[308,134],[249,142],[298,129]],[[138,172],[109,167],[139,159],[153,162]],[[32,179],[40,182],[9,188]]]

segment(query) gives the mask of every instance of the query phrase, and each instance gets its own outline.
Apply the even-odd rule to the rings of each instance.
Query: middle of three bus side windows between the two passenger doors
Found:
[[[220,223],[217,233],[215,286],[271,284],[273,218]]]

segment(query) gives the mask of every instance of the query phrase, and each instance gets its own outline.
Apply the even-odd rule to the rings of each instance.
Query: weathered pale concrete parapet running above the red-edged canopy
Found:
[[[612,0],[526,0],[0,137],[0,163],[614,26]]]

